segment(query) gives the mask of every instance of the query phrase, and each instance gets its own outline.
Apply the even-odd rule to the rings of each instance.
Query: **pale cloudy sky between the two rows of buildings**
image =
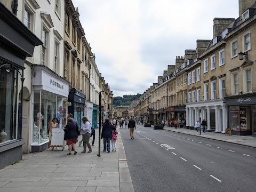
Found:
[[[237,18],[238,0],[73,0],[114,97],[143,93],[176,56],[212,39],[213,18]]]

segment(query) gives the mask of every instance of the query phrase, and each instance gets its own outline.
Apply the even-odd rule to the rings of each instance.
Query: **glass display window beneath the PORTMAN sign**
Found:
[[[54,117],[59,128],[67,124],[67,98],[47,91],[34,91],[34,129],[32,145],[49,141],[49,124]]]

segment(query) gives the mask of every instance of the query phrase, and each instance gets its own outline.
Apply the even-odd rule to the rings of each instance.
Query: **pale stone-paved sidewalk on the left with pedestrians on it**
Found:
[[[133,192],[119,129],[117,151],[111,147],[110,153],[103,153],[101,140],[100,157],[98,131],[95,129],[92,153],[81,153],[83,147],[77,142],[76,155],[73,151],[67,155],[68,146],[63,151],[23,154],[22,161],[0,170],[0,192]]]

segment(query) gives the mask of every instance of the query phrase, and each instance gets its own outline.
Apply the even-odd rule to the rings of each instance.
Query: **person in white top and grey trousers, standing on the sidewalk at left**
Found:
[[[83,121],[83,125],[81,127],[81,134],[83,137],[83,147],[84,150],[81,153],[86,153],[86,146],[89,148],[89,151],[87,153],[91,153],[92,152],[92,147],[90,145],[90,137],[91,137],[91,133],[92,133],[92,126],[91,123],[88,121],[88,118],[83,116],[82,117],[82,121]]]

